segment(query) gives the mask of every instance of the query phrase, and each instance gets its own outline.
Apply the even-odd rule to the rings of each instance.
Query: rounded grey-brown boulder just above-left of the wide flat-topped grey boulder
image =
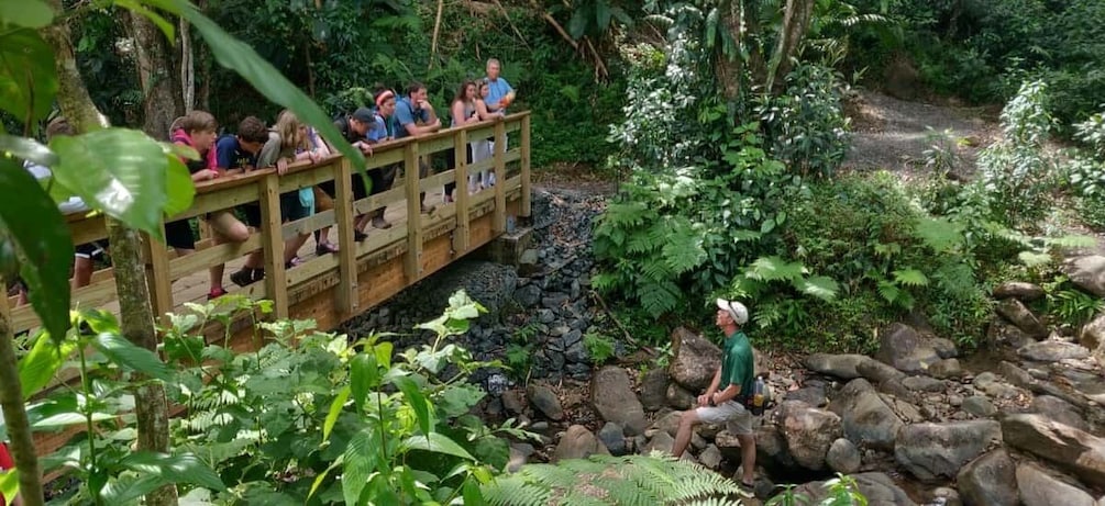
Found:
[[[866,379],[849,381],[829,402],[829,410],[841,417],[844,435],[852,442],[885,451],[894,449],[902,420]]]

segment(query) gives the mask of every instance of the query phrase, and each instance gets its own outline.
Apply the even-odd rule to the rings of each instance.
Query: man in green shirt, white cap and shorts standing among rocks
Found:
[[[740,465],[744,469],[741,484],[751,488],[753,470],[756,466],[756,438],[753,435],[753,416],[745,409],[744,400],[751,395],[755,381],[755,359],[748,337],[740,326],[748,322],[748,308],[740,302],[717,300],[715,324],[725,333],[722,366],[714,374],[706,394],[698,396],[698,407],[683,412],[680,428],[675,433],[672,454],[683,455],[691,442],[694,426],[726,423],[726,430],[740,442]]]

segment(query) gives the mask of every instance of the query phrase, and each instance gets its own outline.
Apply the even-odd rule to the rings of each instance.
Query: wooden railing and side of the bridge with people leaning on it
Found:
[[[507,137],[511,134],[511,140]],[[492,158],[476,163],[466,163],[470,140],[493,139],[495,149]],[[512,149],[506,149],[507,143]],[[359,177],[351,170],[348,160],[333,155],[317,163],[293,164],[287,173],[278,175],[275,170],[265,169],[234,176],[220,177],[196,184],[196,200],[188,211],[168,217],[167,222],[233,209],[242,204],[257,202],[261,206],[262,226],[240,244],[213,245],[201,240],[197,250],[187,256],[177,256],[162,243],[145,238],[146,263],[150,298],[157,314],[172,312],[188,299],[175,294],[173,283],[197,272],[204,273],[212,266],[227,263],[244,255],[261,249],[265,258],[265,278],[242,289],[242,293],[254,299],[270,299],[274,303],[276,317],[288,317],[295,304],[324,292],[332,292],[328,303],[333,306],[332,322],[340,322],[356,315],[368,304],[381,300],[380,293],[368,294],[364,282],[382,282],[398,291],[442,267],[451,259],[460,257],[485,244],[506,230],[508,214],[527,217],[530,214],[530,152],[529,114],[511,115],[503,120],[480,122],[463,128],[451,128],[425,137],[402,139],[376,147],[367,159],[368,169],[385,168],[396,163],[403,166],[403,176],[382,193],[355,201],[351,177]],[[419,179],[419,159],[454,153],[454,168]],[[492,189],[470,195],[467,175],[476,171],[492,170],[497,184]],[[413,176],[412,176],[413,175]],[[334,208],[319,212],[306,218],[282,223],[280,195],[298,189],[335,181]],[[435,206],[429,214],[421,213],[419,194],[433,193],[448,182],[455,182],[456,198],[451,204]],[[508,205],[509,204],[509,205]],[[401,219],[394,220],[390,229],[372,229],[368,239],[354,240],[354,217],[375,209],[404,208]],[[509,208],[508,208],[509,207]],[[398,215],[392,211],[389,216]],[[490,216],[488,216],[490,215]],[[72,215],[69,224],[74,244],[103,240],[107,233],[103,216]],[[483,224],[490,218],[490,230],[473,233],[474,224]],[[482,219],[483,222],[478,222]],[[291,269],[284,266],[284,240],[296,234],[307,234],[333,226],[332,239],[339,244],[336,255],[311,258]],[[430,261],[423,258],[423,250],[431,240],[450,235],[449,259]],[[309,244],[309,243],[308,243]],[[434,243],[435,245],[440,244]],[[436,249],[442,249],[435,246]],[[441,256],[440,254],[438,255]],[[401,280],[377,280],[369,271],[373,266],[386,262],[401,262]],[[232,268],[228,267],[228,273]],[[398,265],[396,272],[399,272]],[[382,272],[380,269],[376,271]],[[400,282],[401,281],[401,282]],[[232,287],[229,280],[225,284]],[[390,293],[390,292],[389,292]],[[93,282],[73,292],[74,306],[95,306],[115,310],[115,280],[110,269],[93,276]],[[38,316],[30,305],[14,306],[14,301],[0,301],[10,311],[15,332],[39,325]],[[316,301],[316,305],[317,301]],[[309,313],[309,311],[308,311]],[[309,315],[309,314],[308,314]]]

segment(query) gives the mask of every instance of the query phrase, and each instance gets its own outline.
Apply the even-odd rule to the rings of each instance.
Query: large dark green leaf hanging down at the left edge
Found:
[[[43,326],[60,338],[70,326],[69,271],[73,240],[65,218],[34,176],[13,159],[0,158],[0,228],[22,252],[20,276]],[[9,245],[10,246],[10,245]]]

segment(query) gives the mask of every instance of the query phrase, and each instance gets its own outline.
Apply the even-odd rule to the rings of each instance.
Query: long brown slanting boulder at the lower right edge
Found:
[[[1041,415],[1004,417],[1001,432],[1010,446],[1050,461],[1091,486],[1105,486],[1105,440]]]

